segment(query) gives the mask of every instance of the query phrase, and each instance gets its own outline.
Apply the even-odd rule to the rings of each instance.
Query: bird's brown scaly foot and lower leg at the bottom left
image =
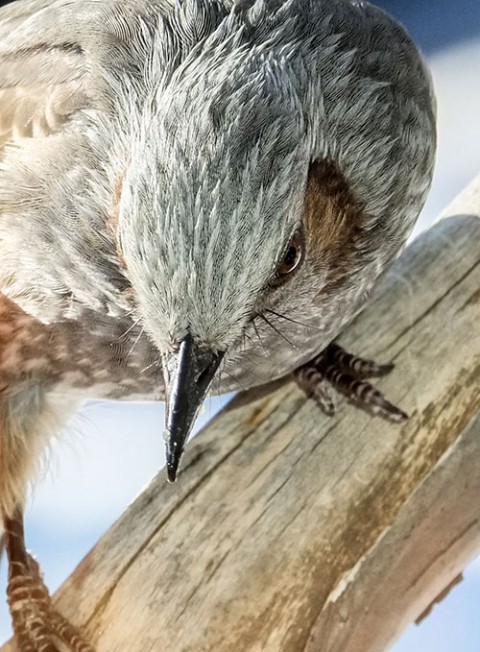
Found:
[[[38,563],[26,551],[20,518],[4,518],[9,557],[7,597],[18,652],[94,652],[53,608]]]

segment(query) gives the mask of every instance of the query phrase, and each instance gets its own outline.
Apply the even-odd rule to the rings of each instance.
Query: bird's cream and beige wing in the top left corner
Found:
[[[54,5],[34,0],[0,10],[0,156],[7,143],[57,132],[98,102],[88,53],[63,32]]]

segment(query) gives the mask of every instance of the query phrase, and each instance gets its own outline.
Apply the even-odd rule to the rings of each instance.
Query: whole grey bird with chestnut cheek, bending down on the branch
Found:
[[[173,482],[209,393],[293,374],[393,421],[335,339],[430,187],[432,80],[360,0],[0,9],[0,513],[20,652],[91,652],[25,543],[48,443],[89,399],[165,400]]]

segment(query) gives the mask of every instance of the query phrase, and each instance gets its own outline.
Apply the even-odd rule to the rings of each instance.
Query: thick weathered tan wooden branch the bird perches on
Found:
[[[341,337],[411,418],[238,396],[58,592],[98,652],[383,651],[480,550],[480,178],[449,214]]]

